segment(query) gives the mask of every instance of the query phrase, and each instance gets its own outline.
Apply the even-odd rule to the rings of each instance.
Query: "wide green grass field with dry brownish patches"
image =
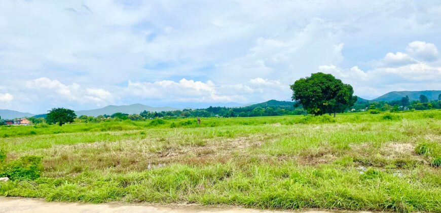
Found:
[[[6,196],[441,212],[439,110],[0,127],[0,150],[42,157]]]

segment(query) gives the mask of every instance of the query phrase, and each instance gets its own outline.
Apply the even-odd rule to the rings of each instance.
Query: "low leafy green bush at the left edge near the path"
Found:
[[[12,181],[35,180],[43,170],[41,157],[24,156],[18,160],[0,166],[0,176],[7,176]]]

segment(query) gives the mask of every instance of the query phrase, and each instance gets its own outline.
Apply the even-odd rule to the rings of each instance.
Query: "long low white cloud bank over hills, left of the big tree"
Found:
[[[256,78],[242,84],[215,85],[212,81],[201,82],[181,79],[174,81],[132,82],[125,88],[125,95],[144,99],[163,98],[176,102],[250,102],[265,98],[280,98],[289,87],[279,81]],[[288,96],[289,97],[289,96]],[[286,97],[282,97],[285,99]]]

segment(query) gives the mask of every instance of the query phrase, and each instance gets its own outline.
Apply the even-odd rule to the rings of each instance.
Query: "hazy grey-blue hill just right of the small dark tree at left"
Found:
[[[174,111],[174,110],[180,110],[178,108],[172,108],[172,107],[150,107],[148,105],[143,105],[140,103],[131,104],[131,105],[121,105],[121,106],[115,106],[115,105],[108,105],[107,107],[96,109],[96,110],[82,110],[82,111],[76,111],[75,114],[77,116],[99,116],[99,115],[112,115],[114,113],[126,113],[126,114],[139,114],[142,111],[149,111],[149,112],[162,112],[162,111]]]

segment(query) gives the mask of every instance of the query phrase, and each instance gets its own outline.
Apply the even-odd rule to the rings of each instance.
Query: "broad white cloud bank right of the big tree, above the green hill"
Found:
[[[415,44],[428,43],[412,42],[408,48]],[[430,45],[429,49],[436,49],[436,46]],[[398,90],[441,89],[439,88],[441,66],[427,61],[418,61],[401,52],[387,53],[385,58],[379,60],[376,66],[369,70],[361,70],[357,66],[348,69],[335,65],[321,65],[319,69],[321,72],[333,74],[350,83],[356,94],[362,94],[364,97],[375,97]]]

